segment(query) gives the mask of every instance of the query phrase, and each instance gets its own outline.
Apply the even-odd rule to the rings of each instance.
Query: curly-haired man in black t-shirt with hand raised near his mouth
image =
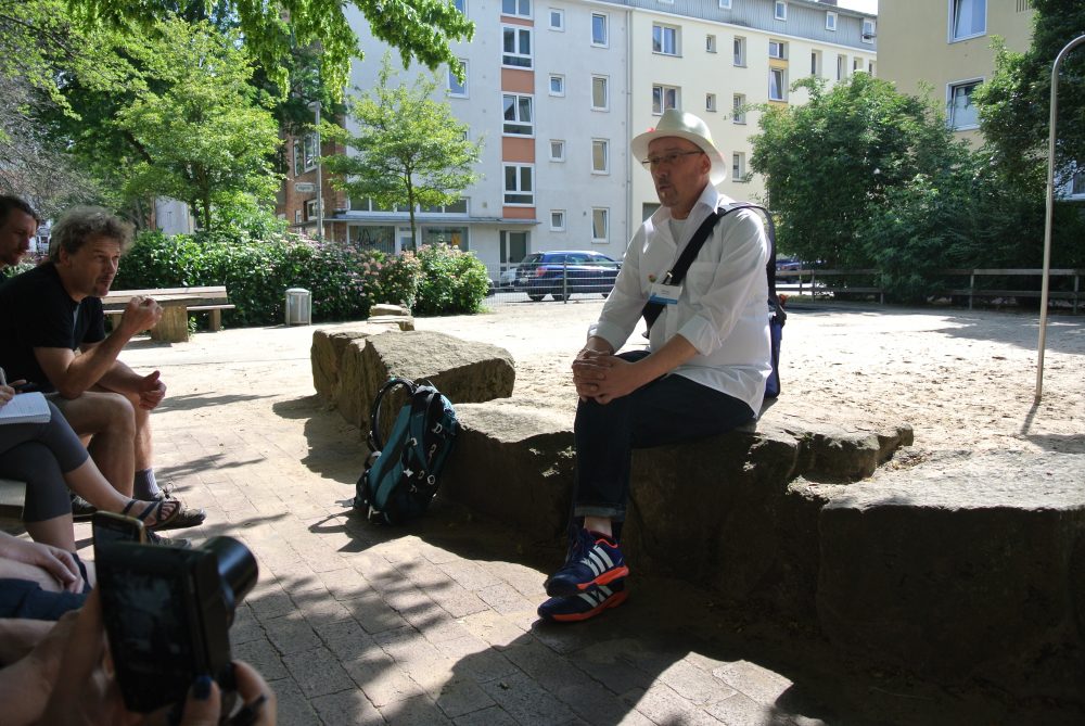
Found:
[[[140,375],[117,359],[128,341],[154,327],[162,308],[150,297],[128,302],[105,334],[103,295],[131,244],[131,226],[98,207],[76,207],[55,225],[49,262],[0,285],[0,367],[51,398],[105,477],[127,496],[164,494],[152,469],[151,410],[165,397],[158,371]],[[131,482],[131,484],[128,484]],[[186,509],[175,526],[203,522]]]

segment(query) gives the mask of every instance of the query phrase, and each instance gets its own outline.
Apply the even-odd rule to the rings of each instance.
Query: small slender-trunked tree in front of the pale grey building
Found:
[[[349,116],[357,136],[333,124],[322,133],[346,144],[354,155],[324,156],[332,184],[356,199],[371,198],[382,206],[410,209],[414,240],[414,207],[451,204],[478,178],[482,142],[468,140],[468,127],[447,102],[435,101],[436,77],[419,75],[414,84],[396,82],[387,55],[376,86],[353,98]]]

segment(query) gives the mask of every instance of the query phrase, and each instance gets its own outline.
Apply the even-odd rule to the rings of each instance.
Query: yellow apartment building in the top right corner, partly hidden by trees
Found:
[[[910,0],[882,2],[879,75],[904,93],[933,87],[953,129],[978,144],[972,91],[995,71],[994,36],[1013,51],[1032,43],[1030,0]]]

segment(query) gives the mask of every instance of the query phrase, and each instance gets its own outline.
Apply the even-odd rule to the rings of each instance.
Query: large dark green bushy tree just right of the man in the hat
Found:
[[[779,247],[829,266],[870,266],[865,239],[872,215],[892,204],[890,191],[961,169],[967,148],[933,104],[867,74],[829,91],[814,78],[795,86],[809,102],[766,109],[751,158],[779,214]]]

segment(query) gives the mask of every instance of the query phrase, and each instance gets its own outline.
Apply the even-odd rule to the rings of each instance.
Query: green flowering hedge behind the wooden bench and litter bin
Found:
[[[267,241],[142,232],[120,262],[114,290],[225,284],[235,309],[228,326],[283,319],[285,291],[312,293],[316,321],[359,320],[374,303],[407,303],[419,315],[476,313],[485,298],[485,266],[444,245],[387,257],[348,243],[294,235]]]

